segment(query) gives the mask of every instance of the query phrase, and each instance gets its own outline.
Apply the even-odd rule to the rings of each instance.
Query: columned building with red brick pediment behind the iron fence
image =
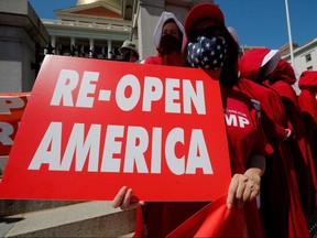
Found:
[[[78,1],[55,14],[57,20],[42,19],[51,36],[45,54],[113,58],[130,37],[131,13],[124,15],[120,0]]]

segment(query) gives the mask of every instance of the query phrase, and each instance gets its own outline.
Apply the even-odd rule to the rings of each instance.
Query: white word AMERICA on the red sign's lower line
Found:
[[[62,152],[62,138],[65,139],[63,123],[51,122],[29,170],[41,170],[46,164],[50,171],[70,171],[73,164],[75,171],[81,172],[86,164],[88,172],[157,174],[162,173],[162,163],[165,160],[168,170],[176,175],[196,174],[197,171],[214,174],[204,133],[199,129],[192,129],[190,136],[186,134],[188,140],[185,140],[187,138],[182,128],[173,128],[163,139],[163,129],[158,127],[152,128],[151,133],[145,128],[135,126],[105,127],[105,134],[101,125],[90,125],[85,133],[87,130],[84,123],[74,123]],[[105,141],[103,151],[100,151],[101,141]],[[184,148],[187,145],[188,151],[176,153],[179,144]]]

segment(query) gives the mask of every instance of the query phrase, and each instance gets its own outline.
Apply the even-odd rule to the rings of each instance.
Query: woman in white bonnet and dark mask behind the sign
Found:
[[[156,56],[149,56],[144,64],[183,66],[186,36],[183,24],[172,12],[163,12],[153,33]]]

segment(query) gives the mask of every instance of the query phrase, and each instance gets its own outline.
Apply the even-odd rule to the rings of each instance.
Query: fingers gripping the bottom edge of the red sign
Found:
[[[144,205],[143,201],[131,202],[132,188],[127,188],[127,186],[121,187],[116,197],[112,201],[112,207],[120,207],[123,210],[132,209],[138,207],[138,205]]]

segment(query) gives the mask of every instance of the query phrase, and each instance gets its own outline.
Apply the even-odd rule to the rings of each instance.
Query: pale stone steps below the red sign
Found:
[[[7,158],[0,156],[0,175]],[[135,209],[109,201],[0,199],[0,237],[132,237]]]

